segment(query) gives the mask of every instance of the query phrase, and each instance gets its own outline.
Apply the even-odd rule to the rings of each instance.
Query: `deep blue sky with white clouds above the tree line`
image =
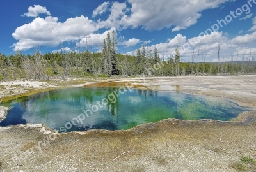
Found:
[[[216,61],[219,43],[221,61],[256,52],[256,0],[10,0],[1,1],[0,14],[0,52],[6,55],[18,48],[24,54],[35,47],[58,51],[60,41],[67,51],[81,51],[86,39],[98,52],[113,30],[123,54],[134,54],[143,43],[165,59],[179,47],[186,62],[193,49],[200,60]]]

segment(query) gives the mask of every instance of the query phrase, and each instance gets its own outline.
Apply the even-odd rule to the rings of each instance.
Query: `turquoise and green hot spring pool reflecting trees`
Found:
[[[11,108],[0,126],[39,123],[59,132],[131,129],[166,118],[230,120],[253,110],[217,97],[124,87],[52,90],[0,106]]]

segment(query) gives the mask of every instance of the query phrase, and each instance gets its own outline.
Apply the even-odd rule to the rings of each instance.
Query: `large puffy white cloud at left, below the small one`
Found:
[[[58,22],[58,17],[35,18],[31,23],[18,27],[12,34],[18,40],[13,50],[28,50],[39,45],[56,46],[61,41],[77,41],[97,31],[95,22],[81,15]]]

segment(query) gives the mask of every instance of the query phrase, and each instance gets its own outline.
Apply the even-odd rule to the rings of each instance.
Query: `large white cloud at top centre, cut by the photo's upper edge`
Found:
[[[172,31],[179,31],[196,24],[197,19],[201,16],[200,11],[207,8],[216,8],[220,4],[232,0],[127,1],[131,4],[131,9],[127,9],[126,4],[122,3],[122,8],[118,8],[119,13],[108,19],[111,21],[110,23],[115,23],[116,28],[125,29],[127,27],[143,26],[145,29],[154,30],[175,26]],[[112,6],[113,10],[116,11],[116,8]],[[131,15],[128,13],[130,11]]]

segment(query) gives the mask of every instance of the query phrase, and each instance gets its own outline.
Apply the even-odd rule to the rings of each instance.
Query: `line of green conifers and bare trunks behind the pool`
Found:
[[[136,50],[136,55],[118,54],[116,32],[108,32],[102,43],[102,52],[90,52],[88,45],[81,52],[65,51],[24,55],[17,50],[15,55],[0,54],[0,80],[33,78],[49,80],[50,76],[62,79],[84,76],[188,76],[227,75],[256,72],[255,57],[243,62],[199,62],[199,52],[191,54],[191,62],[180,62],[179,49],[170,59],[161,60],[157,48],[146,50],[145,44]],[[156,67],[153,69],[153,66]]]

